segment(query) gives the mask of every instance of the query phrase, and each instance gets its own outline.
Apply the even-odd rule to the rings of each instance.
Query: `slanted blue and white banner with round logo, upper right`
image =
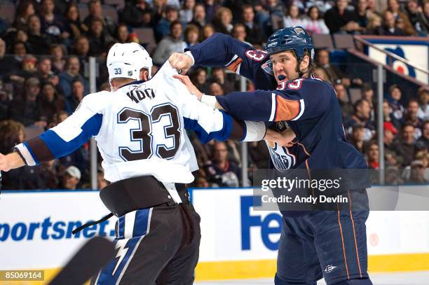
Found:
[[[402,36],[362,36],[362,39],[369,41],[374,44],[377,48],[381,48],[390,53],[404,57],[418,67],[425,70],[429,69],[429,39],[424,37],[402,37]],[[414,69],[399,60],[395,60],[391,57],[386,56],[375,48],[367,48],[365,53],[373,60],[388,64],[393,67],[400,74],[411,76],[416,78],[422,83],[428,84],[428,75],[422,71]]]

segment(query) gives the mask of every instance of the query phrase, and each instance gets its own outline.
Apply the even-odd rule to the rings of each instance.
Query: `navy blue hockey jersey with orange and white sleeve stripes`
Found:
[[[189,50],[196,65],[226,67],[250,79],[259,89],[216,97],[231,115],[242,120],[273,122],[271,127],[275,130],[291,127],[297,135],[290,148],[267,141],[271,167],[280,172],[296,168],[367,167],[362,155],[346,141],[339,103],[329,83],[299,78],[277,86],[268,53],[253,50],[224,34],[214,34]]]

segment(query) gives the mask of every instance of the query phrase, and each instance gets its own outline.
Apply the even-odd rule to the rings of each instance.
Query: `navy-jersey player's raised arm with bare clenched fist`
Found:
[[[215,33],[202,43],[186,49],[185,54],[173,53],[170,64],[187,71],[194,64],[202,67],[224,67],[254,81],[268,53],[226,34]]]

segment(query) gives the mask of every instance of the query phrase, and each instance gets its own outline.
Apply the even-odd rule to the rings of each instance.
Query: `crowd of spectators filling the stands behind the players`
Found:
[[[73,113],[89,93],[89,56],[97,57],[97,90],[109,90],[104,67],[114,43],[142,41],[137,29],[149,29],[156,46],[149,48],[154,60],[152,74],[174,52],[207,39],[214,32],[229,34],[262,49],[274,29],[301,25],[310,34],[373,34],[427,36],[429,0],[1,0],[13,4],[15,17],[0,18],[0,152],[11,148]],[[4,5],[0,4],[0,14]],[[10,6],[10,5],[9,5]],[[85,15],[84,15],[85,14]],[[4,14],[2,14],[4,15]],[[149,33],[150,34],[150,33]],[[373,86],[350,78],[329,61],[329,50],[317,50],[316,77],[334,85],[350,142],[378,168],[376,102]],[[222,68],[191,71],[195,85],[213,96],[239,90],[233,74]],[[252,90],[247,83],[247,90]],[[361,90],[351,98],[350,88]],[[386,168],[428,167],[428,89],[407,94],[392,85],[383,104]],[[241,167],[268,165],[264,142],[248,146],[250,165],[242,165],[240,144],[212,141],[200,144],[190,133],[200,170],[195,186],[240,186]],[[88,144],[60,160],[39,167],[24,167],[6,174],[6,188],[88,187]],[[422,174],[429,181],[426,174]],[[418,176],[420,177],[420,176]],[[420,177],[421,178],[421,177]],[[420,179],[418,178],[418,179]],[[246,179],[246,178],[245,178]],[[402,177],[413,181],[416,175]],[[411,179],[411,180],[410,180]],[[108,183],[98,176],[99,187]]]

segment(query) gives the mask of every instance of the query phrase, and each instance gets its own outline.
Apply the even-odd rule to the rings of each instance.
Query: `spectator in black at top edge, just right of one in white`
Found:
[[[362,29],[357,23],[357,14],[349,11],[347,5],[347,0],[336,0],[336,5],[325,13],[325,24],[331,34],[353,33]]]

